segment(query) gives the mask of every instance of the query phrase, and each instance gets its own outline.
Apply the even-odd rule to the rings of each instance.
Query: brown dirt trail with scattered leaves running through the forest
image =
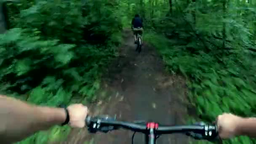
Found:
[[[91,104],[92,115],[114,116],[117,120],[153,120],[160,124],[184,124],[187,117],[186,85],[179,76],[170,76],[155,48],[147,43],[141,53],[135,51],[131,30],[124,30],[119,58],[109,66],[103,85]],[[88,134],[87,129],[73,129],[63,144],[131,144],[133,132],[117,130]],[[87,142],[85,142],[87,141]],[[157,144],[187,144],[182,134],[162,135]],[[136,133],[134,144],[144,144],[144,135]]]

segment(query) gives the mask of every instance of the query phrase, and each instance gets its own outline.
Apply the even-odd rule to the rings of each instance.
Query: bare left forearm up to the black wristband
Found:
[[[20,141],[37,131],[60,125],[65,119],[64,109],[36,107],[0,96],[0,139],[5,143]]]

